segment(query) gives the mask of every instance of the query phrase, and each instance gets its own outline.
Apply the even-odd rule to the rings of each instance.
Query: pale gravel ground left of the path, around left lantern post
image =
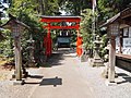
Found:
[[[2,71],[2,78],[0,79],[0,98],[28,98],[32,95],[35,85],[13,85],[13,81],[10,81],[13,71]],[[38,75],[39,69],[28,69],[29,74]],[[4,76],[7,75],[7,76]],[[8,76],[9,75],[9,76]],[[25,79],[25,82],[31,78]],[[36,81],[36,78],[35,78]]]

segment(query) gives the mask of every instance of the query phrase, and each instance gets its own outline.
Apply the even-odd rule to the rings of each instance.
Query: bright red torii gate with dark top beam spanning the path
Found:
[[[48,57],[51,54],[51,44],[52,39],[50,36],[50,29],[76,29],[78,39],[76,39],[76,53],[80,57],[82,54],[82,37],[80,36],[80,16],[40,16],[40,22],[47,23],[44,28],[48,29],[47,36],[44,38],[44,46],[46,48],[45,54]],[[61,23],[61,22],[75,22],[73,26],[52,26],[50,23]]]

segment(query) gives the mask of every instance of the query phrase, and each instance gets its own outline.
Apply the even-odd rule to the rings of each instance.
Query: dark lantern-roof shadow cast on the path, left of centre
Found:
[[[47,85],[53,85],[53,87],[56,87],[57,85],[62,85],[62,78],[58,78],[58,76],[56,76],[55,78],[44,78],[39,84],[39,86]]]

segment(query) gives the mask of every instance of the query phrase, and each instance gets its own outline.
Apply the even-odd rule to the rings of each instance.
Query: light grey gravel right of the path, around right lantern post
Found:
[[[96,98],[131,98],[131,73],[116,66],[117,86],[106,86],[106,78],[102,77],[104,66],[92,68],[87,62],[79,65],[79,73],[90,83]]]

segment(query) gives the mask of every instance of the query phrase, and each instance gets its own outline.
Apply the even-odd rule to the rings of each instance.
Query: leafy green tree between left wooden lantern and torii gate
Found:
[[[33,36],[33,39],[35,40],[35,59],[37,63],[39,63],[39,57],[40,52],[44,47],[43,45],[43,38],[45,36],[44,29],[41,27],[41,24],[39,22],[39,17],[37,14],[37,11],[35,11],[35,8],[38,4],[34,0],[14,0],[12,2],[12,7],[9,9],[9,13],[16,16],[19,21],[25,23],[31,28],[25,29],[22,33],[22,54],[23,54],[23,61],[27,62],[28,54],[29,54],[29,44],[27,40],[29,39],[31,35]],[[11,37],[11,36],[10,36]]]

